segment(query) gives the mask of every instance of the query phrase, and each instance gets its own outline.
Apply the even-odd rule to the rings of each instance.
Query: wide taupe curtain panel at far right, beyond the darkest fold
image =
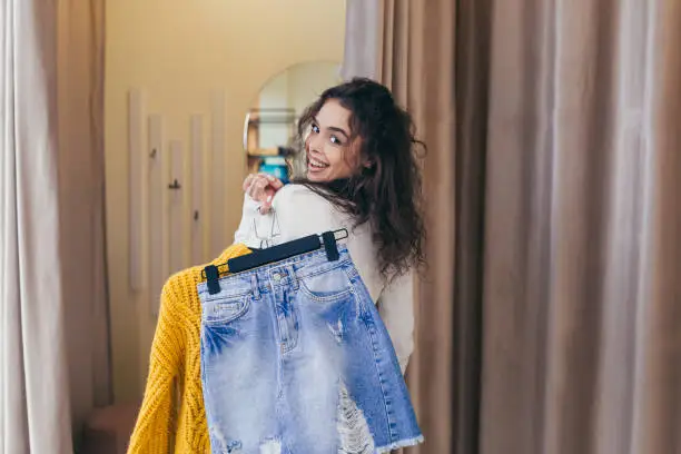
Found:
[[[679,8],[494,3],[483,453],[681,450]]]

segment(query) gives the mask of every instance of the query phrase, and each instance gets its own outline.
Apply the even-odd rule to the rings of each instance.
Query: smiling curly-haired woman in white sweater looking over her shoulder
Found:
[[[235,241],[257,248],[347,228],[347,248],[404,373],[413,351],[413,272],[424,261],[416,157],[423,144],[412,118],[385,87],[354,79],[308,107],[298,139],[306,176],[284,186],[249,175]]]

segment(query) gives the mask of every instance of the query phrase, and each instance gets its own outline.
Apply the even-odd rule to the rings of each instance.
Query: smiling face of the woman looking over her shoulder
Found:
[[[307,178],[333,181],[349,178],[358,168],[358,140],[352,138],[352,112],[335,99],[327,100],[313,118],[305,140]]]

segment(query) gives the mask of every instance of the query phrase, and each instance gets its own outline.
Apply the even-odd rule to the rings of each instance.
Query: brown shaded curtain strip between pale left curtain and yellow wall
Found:
[[[105,2],[58,2],[59,220],[62,295],[76,435],[110,404],[105,254]]]

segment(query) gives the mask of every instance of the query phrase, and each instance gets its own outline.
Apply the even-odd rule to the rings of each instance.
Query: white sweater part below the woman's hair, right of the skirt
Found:
[[[378,312],[387,328],[404,374],[414,351],[414,275],[406,274],[386,286]]]

